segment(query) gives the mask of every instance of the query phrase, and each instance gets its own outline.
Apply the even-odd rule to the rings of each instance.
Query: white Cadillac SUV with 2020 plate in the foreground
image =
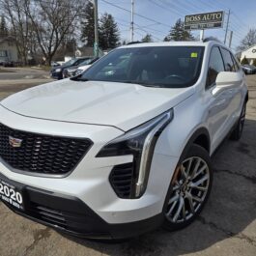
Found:
[[[87,71],[0,103],[0,198],[72,235],[179,229],[202,210],[248,93],[217,42],[122,46]]]

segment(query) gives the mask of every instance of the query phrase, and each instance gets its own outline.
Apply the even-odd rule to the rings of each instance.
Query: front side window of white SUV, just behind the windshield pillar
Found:
[[[225,71],[223,60],[218,47],[213,47],[210,54],[208,76],[207,76],[207,88],[213,86],[215,83],[217,74],[221,71]]]

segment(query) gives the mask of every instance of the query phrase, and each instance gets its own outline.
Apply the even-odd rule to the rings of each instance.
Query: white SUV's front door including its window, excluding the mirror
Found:
[[[219,145],[230,129],[230,118],[232,115],[233,89],[226,87],[218,93],[215,93],[215,80],[220,71],[227,71],[224,59],[219,46],[213,46],[208,67],[205,104],[206,118],[212,139],[212,151]]]

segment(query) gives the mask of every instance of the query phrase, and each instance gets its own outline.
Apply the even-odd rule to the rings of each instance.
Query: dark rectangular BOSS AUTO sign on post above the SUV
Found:
[[[185,30],[202,30],[210,28],[221,28],[224,21],[224,12],[213,12],[206,14],[192,14],[185,16]]]

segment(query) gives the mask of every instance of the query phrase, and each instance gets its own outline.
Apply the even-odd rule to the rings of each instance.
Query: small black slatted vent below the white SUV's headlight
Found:
[[[120,198],[130,198],[133,181],[133,163],[116,165],[109,176],[109,182]]]

